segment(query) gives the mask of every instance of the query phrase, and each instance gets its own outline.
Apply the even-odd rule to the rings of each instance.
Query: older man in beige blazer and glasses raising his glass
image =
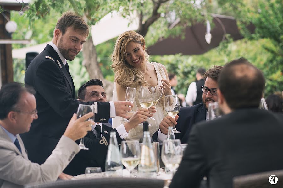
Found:
[[[86,121],[92,112],[79,119],[74,114],[48,159],[42,165],[32,163],[19,134],[28,132],[38,118],[34,93],[17,82],[3,85],[0,90],[0,187],[55,181],[80,151],[75,140],[84,137],[94,123]]]

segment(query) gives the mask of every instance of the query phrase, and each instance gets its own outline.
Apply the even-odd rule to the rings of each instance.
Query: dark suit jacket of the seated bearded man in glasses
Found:
[[[191,107],[180,108],[178,115],[176,129],[181,133],[176,133],[175,138],[180,139],[183,144],[187,143],[192,126],[200,121],[205,121],[206,110],[203,104],[197,104]],[[157,142],[158,131],[153,134],[153,141]]]

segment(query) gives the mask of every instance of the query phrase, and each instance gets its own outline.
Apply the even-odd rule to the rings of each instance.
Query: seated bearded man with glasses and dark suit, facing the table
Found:
[[[156,131],[152,138],[154,141],[162,142],[167,138],[168,127],[176,124],[176,129],[181,133],[175,134],[176,139],[180,139],[182,143],[186,143],[189,133],[194,124],[208,119],[207,108],[210,102],[217,101],[217,79],[223,66],[213,66],[204,73],[204,86],[202,95],[202,104],[197,104],[192,107],[180,108],[180,112],[175,118],[166,116],[159,125],[159,130]],[[211,89],[211,91],[210,91]]]

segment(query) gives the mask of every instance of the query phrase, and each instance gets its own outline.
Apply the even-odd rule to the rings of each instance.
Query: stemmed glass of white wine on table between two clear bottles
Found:
[[[137,140],[126,140],[121,142],[120,148],[122,164],[130,172],[136,168],[141,160],[140,145]]]

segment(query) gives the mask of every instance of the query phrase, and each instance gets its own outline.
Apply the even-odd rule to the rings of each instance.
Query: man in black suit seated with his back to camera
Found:
[[[198,187],[204,176],[210,188],[232,188],[233,177],[283,169],[283,121],[258,109],[264,83],[244,58],[224,66],[218,103],[225,115],[192,128],[170,188]]]

